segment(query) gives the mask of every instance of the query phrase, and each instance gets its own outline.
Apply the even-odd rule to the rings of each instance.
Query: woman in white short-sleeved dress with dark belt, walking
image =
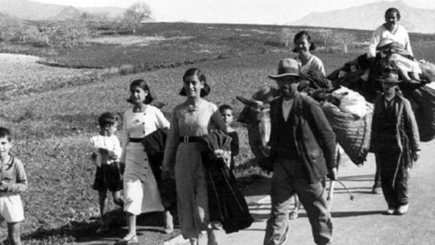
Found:
[[[148,85],[144,80],[134,80],[130,85],[133,105],[124,113],[123,151],[121,162],[126,164],[124,173],[124,211],[127,213],[129,233],[123,242],[137,243],[136,216],[141,213],[163,211],[165,216],[165,233],[174,229],[173,218],[165,210],[157,182],[148,162],[147,154],[141,144],[146,135],[158,128],[169,128],[170,123],[163,113],[150,105],[153,100]]]

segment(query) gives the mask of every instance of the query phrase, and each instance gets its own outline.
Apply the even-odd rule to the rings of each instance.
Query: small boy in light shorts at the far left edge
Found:
[[[8,240],[21,245],[20,227],[24,209],[20,193],[27,190],[27,177],[20,160],[10,154],[11,133],[0,127],[0,221],[7,222]]]

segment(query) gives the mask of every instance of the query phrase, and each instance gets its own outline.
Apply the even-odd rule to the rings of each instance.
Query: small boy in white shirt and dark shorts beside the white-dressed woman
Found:
[[[123,182],[120,172],[121,145],[118,138],[114,135],[118,126],[118,116],[105,112],[98,118],[100,134],[90,138],[90,142],[94,147],[92,160],[97,167],[95,173],[95,181],[93,189],[98,191],[101,218],[107,208],[107,190],[112,192],[113,202],[124,206],[124,199],[121,196]],[[97,233],[108,229],[104,220]]]

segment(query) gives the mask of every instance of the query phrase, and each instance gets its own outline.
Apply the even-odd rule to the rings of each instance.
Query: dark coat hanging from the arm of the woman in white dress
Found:
[[[157,129],[151,134],[142,139],[142,145],[148,155],[148,161],[156,178],[157,186],[162,197],[163,205],[169,209],[176,205],[176,190],[175,180],[169,178],[163,181],[162,176],[162,162],[165,153],[166,138],[169,129]]]

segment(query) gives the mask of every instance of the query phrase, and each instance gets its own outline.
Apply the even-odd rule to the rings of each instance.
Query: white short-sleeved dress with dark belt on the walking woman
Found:
[[[170,123],[155,106],[147,105],[144,112],[124,113],[124,139],[121,161],[126,164],[124,173],[124,211],[140,213],[163,211],[162,198],[148,162],[144,147],[131,138],[141,139],[158,128],[169,128]]]

